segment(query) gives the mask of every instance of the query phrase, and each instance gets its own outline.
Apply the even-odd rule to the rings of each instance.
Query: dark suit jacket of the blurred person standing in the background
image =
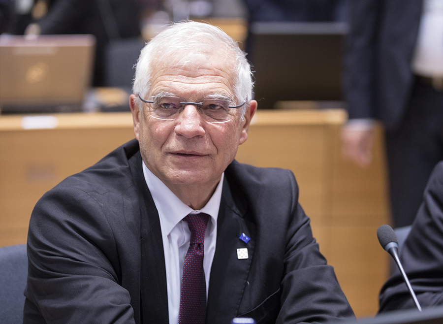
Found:
[[[344,90],[349,118],[395,130],[409,102],[421,0],[349,1]]]

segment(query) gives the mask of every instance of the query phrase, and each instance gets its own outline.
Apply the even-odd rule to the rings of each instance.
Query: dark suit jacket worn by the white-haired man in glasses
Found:
[[[24,323],[168,323],[160,223],[141,165],[132,140],[38,201]],[[249,259],[237,259],[238,248]],[[234,161],[225,171],[206,323],[236,316],[299,323],[353,313],[312,237],[293,174]]]

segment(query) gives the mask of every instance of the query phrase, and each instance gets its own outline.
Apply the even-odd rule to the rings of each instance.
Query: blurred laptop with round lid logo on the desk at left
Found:
[[[0,113],[80,111],[94,56],[93,35],[1,35]]]

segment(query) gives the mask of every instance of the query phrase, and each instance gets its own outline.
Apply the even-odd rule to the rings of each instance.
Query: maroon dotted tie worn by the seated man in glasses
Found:
[[[206,318],[206,281],[203,270],[205,230],[209,215],[188,215],[184,219],[191,232],[183,265],[179,324],[204,324]]]

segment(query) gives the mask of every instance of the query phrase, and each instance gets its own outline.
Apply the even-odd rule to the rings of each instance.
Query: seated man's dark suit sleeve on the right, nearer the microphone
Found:
[[[354,318],[348,300],[312,236],[310,220],[298,203],[298,187],[290,177],[293,207],[289,218],[281,282],[281,310],[276,323],[338,321]],[[298,323],[298,322],[297,322]]]

